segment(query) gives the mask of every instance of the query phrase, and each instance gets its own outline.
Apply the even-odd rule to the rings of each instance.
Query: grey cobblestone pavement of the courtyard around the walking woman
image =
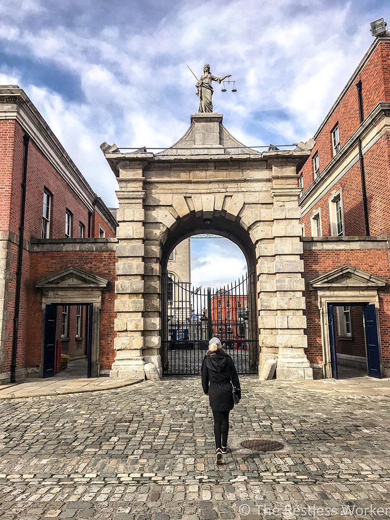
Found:
[[[224,466],[199,378],[1,401],[0,518],[390,517],[387,395],[241,386]],[[284,448],[253,453],[248,438]]]

